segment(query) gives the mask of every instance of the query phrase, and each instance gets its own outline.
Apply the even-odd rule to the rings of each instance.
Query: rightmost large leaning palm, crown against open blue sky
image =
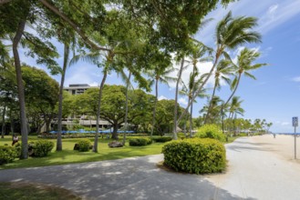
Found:
[[[229,96],[228,100],[224,105],[227,105],[229,101],[233,98],[233,95],[235,94],[236,89],[240,84],[242,75],[253,78],[254,80],[256,79],[254,75],[249,73],[249,71],[255,70],[257,68],[266,65],[266,64],[254,64],[254,65],[252,64],[253,61],[257,59],[259,56],[260,56],[259,52],[248,48],[244,48],[241,51],[240,55],[238,55],[237,57],[237,64],[234,64],[233,61],[231,61],[233,68],[235,68],[236,70],[237,76],[233,79],[233,85],[232,85],[233,93],[232,95]]]

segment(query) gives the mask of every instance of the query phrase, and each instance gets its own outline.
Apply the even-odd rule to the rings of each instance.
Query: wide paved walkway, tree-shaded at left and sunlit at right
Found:
[[[162,155],[76,165],[0,170],[0,182],[61,186],[86,199],[299,199],[298,164],[279,159],[251,138],[226,145],[222,175],[187,175],[156,166]]]

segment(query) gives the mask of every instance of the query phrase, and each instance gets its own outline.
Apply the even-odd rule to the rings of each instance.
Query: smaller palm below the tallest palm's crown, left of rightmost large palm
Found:
[[[216,72],[214,73],[214,86],[212,90],[212,99],[215,95],[216,89],[220,90],[221,89],[221,81],[224,81],[228,85],[231,84],[231,79],[229,76],[233,75],[233,70],[234,68],[232,65],[230,65],[230,62],[228,60],[222,60],[216,67]],[[206,124],[210,112],[211,112],[211,107],[212,107],[212,100],[210,102],[210,105],[208,107],[207,114],[204,119],[204,124]]]

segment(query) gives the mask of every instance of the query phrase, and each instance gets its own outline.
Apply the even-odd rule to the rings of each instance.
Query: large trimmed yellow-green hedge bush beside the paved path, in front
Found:
[[[176,171],[193,174],[222,172],[226,151],[221,142],[210,138],[171,141],[162,147],[164,164]]]

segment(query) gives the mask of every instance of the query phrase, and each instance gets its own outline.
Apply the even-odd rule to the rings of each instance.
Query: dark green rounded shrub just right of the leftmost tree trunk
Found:
[[[30,156],[47,156],[54,147],[54,143],[47,140],[37,140],[28,143],[28,154]]]

